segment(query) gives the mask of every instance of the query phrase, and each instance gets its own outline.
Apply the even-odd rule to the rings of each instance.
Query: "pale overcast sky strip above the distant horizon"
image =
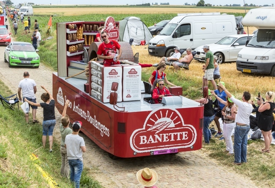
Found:
[[[192,4],[192,3],[197,3],[199,2],[199,0],[183,0],[183,1],[174,1],[174,0],[105,0],[105,1],[87,1],[87,0],[29,0],[29,1],[18,1],[18,0],[11,0],[13,3],[18,4],[18,3],[24,3],[24,2],[34,2],[35,4],[72,4],[75,5],[75,2],[77,2],[78,5],[102,5],[103,3],[105,3],[105,5],[126,5],[127,3],[129,5],[136,5],[136,4],[142,4],[142,3],[154,3],[157,2],[159,5],[160,3],[164,3],[164,2],[169,2],[170,5],[184,5],[184,3],[188,3],[188,4]],[[90,2],[90,3],[89,3]],[[230,0],[230,1],[221,1],[221,0],[204,0],[204,2],[210,3],[212,5],[226,5],[226,4],[240,4],[241,6],[244,5],[244,1],[243,0]],[[248,5],[255,4],[255,5],[271,5],[271,3],[274,3],[273,1],[270,0],[247,0],[245,1]]]

